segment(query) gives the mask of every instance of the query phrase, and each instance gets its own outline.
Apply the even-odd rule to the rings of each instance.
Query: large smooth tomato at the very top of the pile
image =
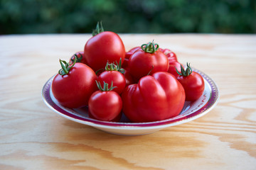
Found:
[[[104,31],[98,24],[96,30],[84,49],[85,60],[95,72],[104,68],[107,62],[119,62],[120,58],[123,62],[125,57],[124,43],[117,33]]]

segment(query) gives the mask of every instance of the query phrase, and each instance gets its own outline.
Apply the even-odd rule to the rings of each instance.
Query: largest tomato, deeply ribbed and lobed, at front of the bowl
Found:
[[[185,103],[185,91],[168,72],[142,77],[124,89],[123,112],[132,122],[151,122],[178,115]]]

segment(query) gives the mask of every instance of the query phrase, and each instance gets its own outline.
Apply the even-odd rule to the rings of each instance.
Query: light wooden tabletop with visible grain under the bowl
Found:
[[[256,35],[120,34],[154,40],[208,74],[212,111],[150,135],[120,136],[54,113],[41,90],[91,35],[0,36],[0,169],[256,169]]]

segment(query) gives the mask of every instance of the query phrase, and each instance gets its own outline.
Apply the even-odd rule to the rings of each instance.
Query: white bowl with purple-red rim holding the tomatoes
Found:
[[[193,69],[193,72],[198,72],[201,74],[203,80],[205,81],[205,90],[203,95],[198,98],[197,101],[186,101],[183,107],[183,111],[181,111],[179,115],[166,120],[149,123],[131,123],[124,114],[122,114],[120,122],[100,121],[89,118],[87,107],[78,109],[65,108],[61,106],[60,103],[58,103],[52,94],[51,84],[54,76],[46,81],[46,84],[43,86],[42,95],[43,100],[49,108],[64,118],[68,118],[69,120],[73,120],[77,123],[82,123],[85,125],[90,125],[99,130],[110,132],[116,135],[146,135],[164,128],[168,128],[170,126],[179,125],[182,123],[187,123],[191,120],[195,120],[196,118],[199,118],[202,115],[208,113],[218,103],[218,86],[215,84],[213,79],[210,79],[210,77],[208,77],[203,72],[198,71],[197,69]]]

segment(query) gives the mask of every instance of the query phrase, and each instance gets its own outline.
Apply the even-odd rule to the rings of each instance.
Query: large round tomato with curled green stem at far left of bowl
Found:
[[[86,64],[72,65],[60,60],[62,69],[53,79],[52,91],[56,100],[68,108],[87,106],[91,94],[97,90],[97,76]],[[65,65],[64,65],[65,64]]]

